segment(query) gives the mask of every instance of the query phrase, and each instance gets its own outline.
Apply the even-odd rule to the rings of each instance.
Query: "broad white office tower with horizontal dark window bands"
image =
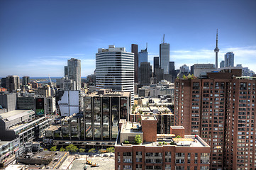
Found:
[[[109,45],[96,53],[96,89],[130,91],[134,95],[134,54],[125,47]]]

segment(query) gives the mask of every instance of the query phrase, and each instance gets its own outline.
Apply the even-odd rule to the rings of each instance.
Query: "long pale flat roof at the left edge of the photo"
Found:
[[[6,113],[1,113],[0,116],[3,119],[8,119],[7,121],[14,120],[16,118],[21,118],[24,115],[28,115],[29,113],[35,113],[32,110],[15,110],[15,111],[10,111]],[[5,120],[6,121],[6,120]]]

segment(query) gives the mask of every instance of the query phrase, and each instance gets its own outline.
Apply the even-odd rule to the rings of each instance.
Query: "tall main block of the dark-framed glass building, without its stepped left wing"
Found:
[[[93,140],[116,139],[118,121],[129,120],[130,102],[130,92],[112,92],[111,89],[84,97],[85,136]]]

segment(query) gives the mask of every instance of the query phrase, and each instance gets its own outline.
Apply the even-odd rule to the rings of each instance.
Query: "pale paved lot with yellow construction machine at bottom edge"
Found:
[[[100,154],[101,155],[101,154]],[[101,156],[103,156],[102,154]],[[108,153],[110,155],[110,153]],[[112,154],[113,155],[113,154]],[[79,159],[74,160],[73,166],[71,170],[82,170],[87,162],[88,155],[81,155]],[[88,157],[88,160],[92,162],[92,164],[99,164],[99,167],[91,167],[87,165],[87,169],[96,169],[96,170],[113,170],[115,169],[115,158],[114,157]]]

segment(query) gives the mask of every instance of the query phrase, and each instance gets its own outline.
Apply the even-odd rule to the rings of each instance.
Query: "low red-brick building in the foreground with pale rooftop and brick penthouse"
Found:
[[[210,147],[199,136],[184,135],[183,127],[172,126],[169,134],[157,134],[157,119],[152,115],[143,116],[141,125],[121,120],[120,127],[115,145],[116,170],[209,169]],[[136,136],[142,144],[135,144]]]

